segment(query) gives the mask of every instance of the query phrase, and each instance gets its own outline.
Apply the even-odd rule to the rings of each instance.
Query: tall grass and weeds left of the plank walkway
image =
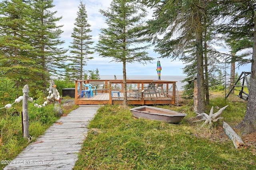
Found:
[[[38,101],[43,103],[42,101]],[[22,136],[22,105],[15,105],[8,110],[0,112],[0,160],[13,160],[30,142],[48,129],[59,117],[54,113],[54,105],[46,105],[40,109],[34,107],[34,103],[28,103],[29,134],[30,141]],[[64,114],[68,114],[77,106],[73,105],[64,109]],[[18,112],[20,114],[18,114]],[[15,113],[15,114],[14,114]],[[0,169],[6,164],[0,164]]]

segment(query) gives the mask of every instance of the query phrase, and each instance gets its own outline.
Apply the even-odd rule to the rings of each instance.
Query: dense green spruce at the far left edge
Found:
[[[0,2],[0,70],[15,80],[16,87],[34,85],[34,74],[40,72],[30,59],[31,9],[22,0]],[[31,81],[32,80],[32,81]]]

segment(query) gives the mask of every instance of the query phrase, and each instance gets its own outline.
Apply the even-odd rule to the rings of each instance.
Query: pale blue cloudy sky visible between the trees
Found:
[[[98,42],[100,29],[106,28],[105,18],[100,14],[99,10],[107,10],[110,7],[112,0],[83,0],[86,5],[86,12],[88,15],[88,24],[91,25],[90,35],[92,35],[92,41],[94,45]],[[62,19],[57,22],[57,25],[63,25],[61,28],[64,32],[61,34],[61,40],[65,40],[62,45],[65,49],[69,49],[68,45],[72,42],[71,34],[74,28],[75,18],[77,17],[78,6],[80,0],[54,0],[55,5],[52,11],[57,11],[55,17],[62,16]],[[152,11],[148,11],[148,17],[152,16]],[[219,51],[229,53],[230,49],[218,49]],[[154,60],[151,63],[142,65],[141,63],[134,62],[126,65],[126,75],[157,75],[156,64],[160,55],[154,52],[154,46],[146,50],[148,56],[153,57]],[[66,55],[71,55],[66,53]],[[110,62],[111,58],[102,58],[98,53],[91,55],[94,59],[87,61],[87,65],[84,70],[96,70],[98,68],[100,75],[122,75],[122,63]],[[185,66],[182,61],[174,60],[170,58],[159,59],[162,67],[161,76],[184,76],[182,68]],[[250,66],[239,67],[236,69],[238,74],[242,71],[250,71]]]

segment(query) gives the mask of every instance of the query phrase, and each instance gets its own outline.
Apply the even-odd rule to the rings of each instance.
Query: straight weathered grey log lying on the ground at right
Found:
[[[236,132],[226,123],[222,122],[225,134],[230,138],[236,148],[244,146],[243,140],[236,134]]]

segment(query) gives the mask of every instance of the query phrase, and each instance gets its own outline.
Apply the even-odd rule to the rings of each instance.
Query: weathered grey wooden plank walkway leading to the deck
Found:
[[[100,107],[80,106],[66,117],[61,117],[4,170],[72,170],[87,136],[89,121]]]

